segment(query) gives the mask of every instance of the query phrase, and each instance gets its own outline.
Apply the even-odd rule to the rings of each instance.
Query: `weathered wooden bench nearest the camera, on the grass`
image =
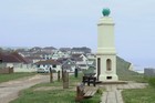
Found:
[[[75,101],[80,102],[83,99],[90,99],[96,93],[96,87],[85,87],[84,84],[80,84],[76,86],[76,97]]]

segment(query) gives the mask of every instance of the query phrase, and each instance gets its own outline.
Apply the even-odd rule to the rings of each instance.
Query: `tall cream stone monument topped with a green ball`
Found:
[[[110,9],[103,9],[97,23],[96,76],[101,82],[118,81],[116,75],[116,51],[114,42],[114,21]]]

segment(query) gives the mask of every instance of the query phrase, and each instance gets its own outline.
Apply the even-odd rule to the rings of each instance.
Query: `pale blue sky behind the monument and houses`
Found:
[[[89,47],[110,8],[117,55],[155,66],[155,0],[0,0],[0,47]]]

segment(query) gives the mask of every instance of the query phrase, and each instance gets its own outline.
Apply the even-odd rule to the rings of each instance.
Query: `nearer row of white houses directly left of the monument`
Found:
[[[71,58],[59,58],[56,60],[45,60],[35,63],[37,68],[52,69],[54,71],[74,72],[75,69],[87,70],[90,66],[95,69],[95,56],[87,59],[84,54],[72,54]]]

